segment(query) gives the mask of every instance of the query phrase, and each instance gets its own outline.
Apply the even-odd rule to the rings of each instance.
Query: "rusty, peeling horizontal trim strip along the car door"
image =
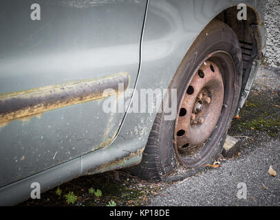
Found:
[[[124,83],[127,89],[127,72],[94,80],[0,94],[0,126],[6,126],[12,120],[28,121],[35,115],[40,118],[45,111],[107,98],[112,95],[103,96],[103,91],[108,88],[115,89],[118,94],[118,83]]]

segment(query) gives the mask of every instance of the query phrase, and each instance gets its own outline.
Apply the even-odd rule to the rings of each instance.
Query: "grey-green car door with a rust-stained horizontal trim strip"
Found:
[[[34,3],[0,1],[0,187],[110,144],[138,76],[147,1]]]

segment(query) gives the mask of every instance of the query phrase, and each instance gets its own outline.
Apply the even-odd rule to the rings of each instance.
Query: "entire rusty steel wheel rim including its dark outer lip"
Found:
[[[235,67],[230,56],[226,52],[219,51],[206,57],[190,80],[186,95],[181,100],[180,117],[177,117],[174,126],[175,154],[181,164],[190,168],[203,164],[222,138],[222,131],[226,128],[234,100],[233,96],[229,96],[229,94],[235,94],[233,87]],[[225,73],[230,76],[225,77]],[[195,80],[197,82],[204,80],[204,83],[201,85],[197,83],[200,86],[196,88]],[[196,89],[200,91],[195,91]],[[218,94],[217,91],[219,91]],[[202,111],[193,110],[195,103],[202,104]],[[191,105],[193,107],[189,111]],[[211,111],[214,109],[213,120]],[[184,115],[182,111],[188,114]],[[208,130],[205,131],[207,126]],[[194,135],[195,133],[196,135]],[[191,137],[193,135],[194,137]]]

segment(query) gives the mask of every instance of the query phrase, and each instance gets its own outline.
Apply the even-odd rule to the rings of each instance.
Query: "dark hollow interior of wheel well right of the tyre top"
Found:
[[[238,12],[237,6],[233,6],[218,14],[215,19],[229,25],[235,34],[237,34],[242,52],[242,91],[250,76],[253,60],[260,61],[263,54],[261,53],[261,35],[259,32],[259,17],[257,12],[253,8],[247,7],[247,20],[241,21],[237,19]]]

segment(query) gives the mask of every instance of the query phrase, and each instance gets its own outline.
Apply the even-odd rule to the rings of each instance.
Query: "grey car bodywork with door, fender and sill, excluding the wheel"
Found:
[[[239,109],[266,48],[256,0],[32,0],[0,2],[0,204],[81,175],[139,164],[154,113],[105,113],[107,88],[169,87],[184,55],[213,19],[250,47]],[[237,5],[248,6],[236,22]],[[253,37],[255,43],[246,44]],[[245,47],[245,46],[244,46]],[[247,47],[248,48],[248,47]],[[118,102],[118,94],[113,95]],[[133,94],[125,96],[131,104]]]

